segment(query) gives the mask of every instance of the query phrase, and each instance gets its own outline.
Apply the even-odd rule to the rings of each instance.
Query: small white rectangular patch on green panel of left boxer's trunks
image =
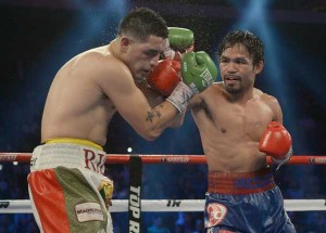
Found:
[[[75,206],[79,222],[104,221],[103,211],[98,203],[82,203]]]

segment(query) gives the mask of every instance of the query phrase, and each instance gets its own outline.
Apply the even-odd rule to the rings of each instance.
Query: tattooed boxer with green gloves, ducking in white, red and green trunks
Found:
[[[141,83],[158,64],[167,36],[164,20],[139,8],[122,21],[109,46],[76,55],[58,72],[43,109],[42,145],[34,150],[28,174],[41,232],[112,232],[108,208],[113,182],[103,176],[102,145],[113,115],[118,112],[141,137],[154,140],[175,126],[195,93],[214,81],[217,69],[208,54],[189,53],[180,61],[187,67],[183,81],[167,101],[153,106],[162,95],[145,93]]]

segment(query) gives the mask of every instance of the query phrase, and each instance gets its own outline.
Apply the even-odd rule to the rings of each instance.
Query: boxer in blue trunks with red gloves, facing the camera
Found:
[[[264,65],[262,41],[228,34],[218,47],[223,82],[189,103],[209,167],[205,232],[296,232],[266,154],[280,165],[292,155],[278,101],[254,88]]]

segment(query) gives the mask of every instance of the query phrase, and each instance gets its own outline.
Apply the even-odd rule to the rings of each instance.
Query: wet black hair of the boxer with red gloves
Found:
[[[237,43],[242,44],[248,50],[252,57],[253,65],[256,65],[260,61],[264,61],[264,43],[258,36],[249,30],[235,30],[227,34],[218,46],[218,57],[221,57],[224,50]]]

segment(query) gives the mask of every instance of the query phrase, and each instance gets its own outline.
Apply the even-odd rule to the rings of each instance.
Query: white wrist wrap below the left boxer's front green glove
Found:
[[[166,101],[172,103],[181,114],[187,109],[187,104],[193,94],[195,92],[191,90],[191,88],[185,85],[185,82],[180,81]]]

